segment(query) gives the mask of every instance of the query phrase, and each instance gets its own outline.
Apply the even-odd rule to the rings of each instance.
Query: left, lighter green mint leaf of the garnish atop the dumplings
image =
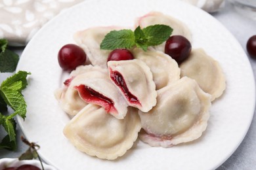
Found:
[[[131,29],[110,31],[100,44],[102,50],[115,50],[117,48],[132,48],[135,46],[135,35]]]

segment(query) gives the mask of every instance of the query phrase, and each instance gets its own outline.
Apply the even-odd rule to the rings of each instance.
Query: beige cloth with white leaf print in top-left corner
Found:
[[[25,46],[48,20],[83,0],[2,0],[0,39],[9,45]]]

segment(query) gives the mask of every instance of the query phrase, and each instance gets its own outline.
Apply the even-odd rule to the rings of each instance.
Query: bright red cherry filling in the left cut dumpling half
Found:
[[[85,102],[100,105],[104,107],[106,112],[117,112],[112,99],[109,99],[101,93],[96,92],[92,88],[81,84],[79,86],[75,86],[75,89],[78,91],[79,95]]]

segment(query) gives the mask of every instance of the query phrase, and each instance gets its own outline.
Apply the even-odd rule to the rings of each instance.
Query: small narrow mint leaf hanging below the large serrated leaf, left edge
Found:
[[[3,127],[5,127],[5,131],[7,131],[9,135],[9,141],[16,141],[16,122],[13,118],[6,118],[3,120]]]

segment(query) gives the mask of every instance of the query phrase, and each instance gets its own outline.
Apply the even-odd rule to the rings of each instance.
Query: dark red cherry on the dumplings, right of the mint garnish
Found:
[[[188,39],[181,35],[173,35],[165,42],[165,54],[171,56],[177,63],[181,63],[188,58],[191,48]]]

